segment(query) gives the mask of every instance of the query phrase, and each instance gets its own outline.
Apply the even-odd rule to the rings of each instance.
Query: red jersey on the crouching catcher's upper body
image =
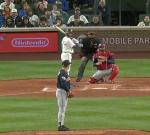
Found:
[[[112,64],[109,63],[109,57],[114,56],[114,53],[111,52],[98,52],[93,55],[93,59],[96,59],[98,56],[104,56],[107,58],[107,61],[102,62],[102,64],[97,65],[99,70],[106,70],[112,67]]]

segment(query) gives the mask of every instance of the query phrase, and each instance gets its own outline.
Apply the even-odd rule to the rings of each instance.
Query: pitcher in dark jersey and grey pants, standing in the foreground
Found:
[[[70,131],[70,129],[64,125],[65,112],[68,103],[68,95],[71,93],[70,78],[67,72],[70,64],[71,63],[68,60],[63,61],[62,69],[59,71],[57,76],[56,97],[59,108],[58,131]]]

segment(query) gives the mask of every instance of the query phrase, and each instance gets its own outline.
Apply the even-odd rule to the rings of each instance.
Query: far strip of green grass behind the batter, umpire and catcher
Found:
[[[80,63],[72,62],[71,77],[76,77]],[[150,60],[116,60],[116,64],[120,68],[118,77],[150,77]],[[85,77],[94,73],[91,65],[89,61]],[[0,80],[55,78],[60,68],[61,61],[0,62]]]

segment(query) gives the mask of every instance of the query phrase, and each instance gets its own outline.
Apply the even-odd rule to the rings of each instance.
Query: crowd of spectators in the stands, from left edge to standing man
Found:
[[[68,14],[69,2],[73,2],[73,15]],[[99,0],[97,15],[91,20],[81,13],[83,7],[93,4],[94,0],[4,0],[0,4],[0,27],[109,26],[111,11],[105,0]],[[65,16],[67,23],[62,20]]]

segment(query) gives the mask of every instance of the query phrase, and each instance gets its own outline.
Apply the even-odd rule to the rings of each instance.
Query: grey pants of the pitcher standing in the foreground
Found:
[[[65,112],[67,109],[68,97],[67,92],[62,89],[57,89],[56,91],[57,103],[58,103],[58,123],[61,122],[61,125],[64,125]]]

